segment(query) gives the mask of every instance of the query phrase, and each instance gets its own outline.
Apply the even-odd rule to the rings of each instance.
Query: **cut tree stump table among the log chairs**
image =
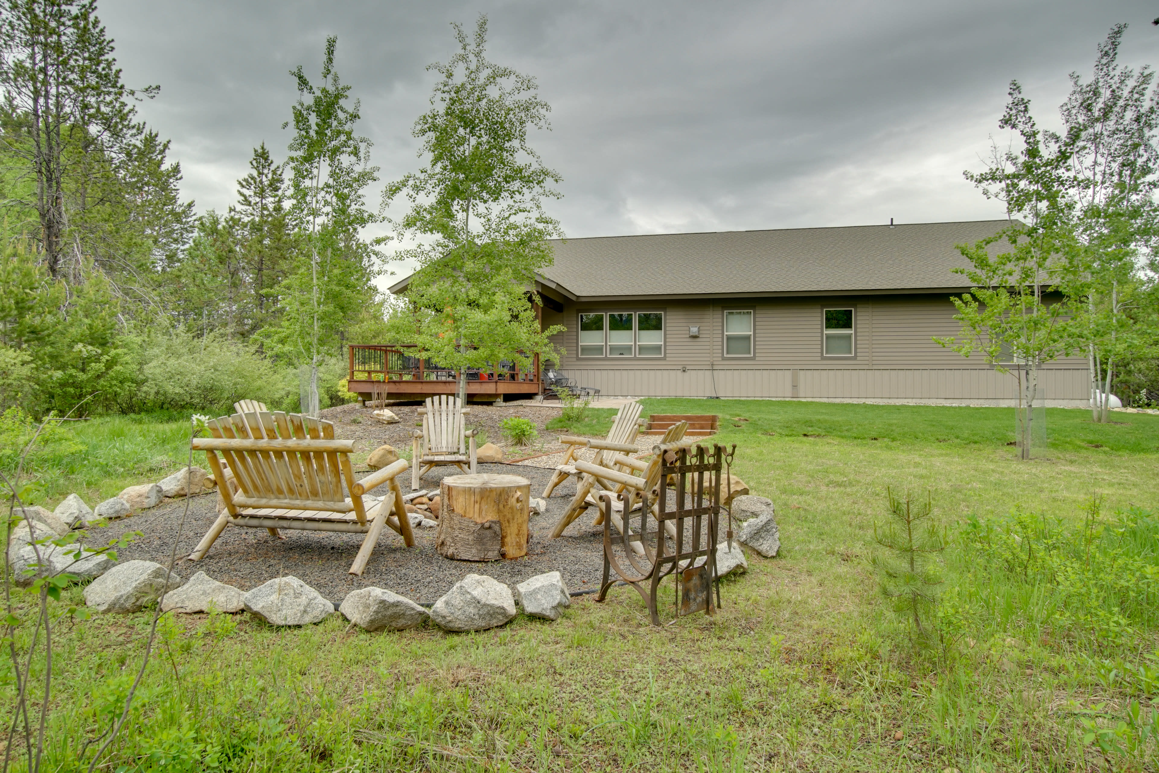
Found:
[[[439,555],[497,561],[527,554],[531,481],[518,475],[447,475],[442,486]]]

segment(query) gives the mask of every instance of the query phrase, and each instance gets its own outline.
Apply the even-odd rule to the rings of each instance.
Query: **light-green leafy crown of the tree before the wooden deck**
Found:
[[[398,254],[418,270],[407,287],[407,307],[393,309],[392,340],[417,344],[444,367],[524,370],[533,356],[556,359],[532,308],[535,272],[552,263],[545,239],[562,235],[542,210],[559,182],[527,141],[547,129],[546,102],[535,80],[487,59],[487,19],[473,39],[454,24],[459,52],[428,67],[442,80],[430,111],[415,122],[428,166],[387,185],[384,207],[400,195],[410,211],[393,221],[418,246]]]

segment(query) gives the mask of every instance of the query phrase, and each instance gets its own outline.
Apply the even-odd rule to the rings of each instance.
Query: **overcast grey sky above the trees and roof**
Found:
[[[1121,61],[1159,63],[1159,3],[1008,2],[156,2],[101,0],[141,116],[173,140],[183,195],[226,209],[253,147],[285,158],[297,97],[326,37],[362,100],[382,181],[420,165],[415,118],[451,22],[490,24],[489,56],[539,80],[552,131],[532,138],[563,182],[569,236],[1001,217],[962,178],[978,169],[1007,83],[1057,122],[1111,24]],[[380,188],[380,185],[379,185]],[[378,191],[370,197],[377,205]]]

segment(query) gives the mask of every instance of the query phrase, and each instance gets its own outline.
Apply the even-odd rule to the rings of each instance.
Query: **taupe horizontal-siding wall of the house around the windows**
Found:
[[[854,355],[822,353],[823,309],[854,309]],[[753,353],[723,355],[723,312],[753,311]],[[664,312],[664,357],[578,357],[581,312]],[[568,302],[547,312],[544,323],[563,324],[553,336],[566,350],[559,366],[576,384],[602,396],[781,398],[837,401],[1009,404],[1014,377],[981,355],[969,358],[941,347],[934,336],[957,335],[948,296],[867,296],[655,302]],[[690,337],[688,326],[700,336]],[[1084,358],[1059,359],[1043,369],[1048,404],[1088,401]]]

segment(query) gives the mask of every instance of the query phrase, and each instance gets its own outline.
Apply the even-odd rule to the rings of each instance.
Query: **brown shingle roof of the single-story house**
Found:
[[[968,286],[955,245],[1006,220],[552,240],[542,274],[580,298]]]

